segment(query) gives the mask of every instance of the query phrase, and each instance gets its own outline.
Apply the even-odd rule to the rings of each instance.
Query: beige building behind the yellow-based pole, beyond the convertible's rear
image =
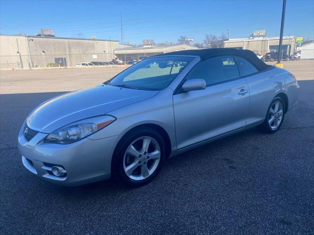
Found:
[[[249,38],[235,38],[224,41],[225,48],[248,49],[264,55],[279,49],[279,37],[252,36]],[[295,50],[295,37],[284,36],[282,53],[291,56]]]

